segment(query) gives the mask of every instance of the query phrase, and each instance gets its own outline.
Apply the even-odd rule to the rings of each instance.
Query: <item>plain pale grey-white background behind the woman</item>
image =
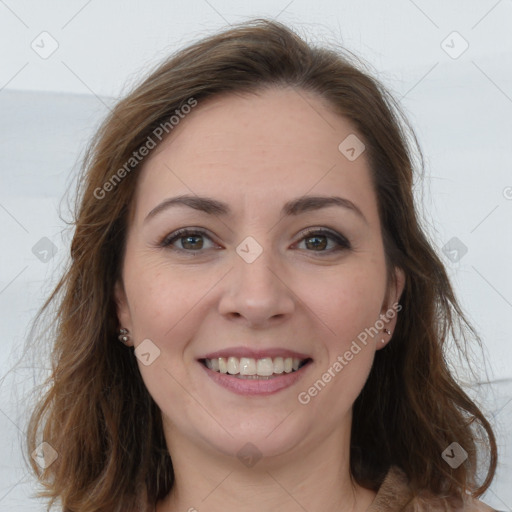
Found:
[[[0,376],[21,354],[66,258],[61,199],[107,106],[169,52],[254,16],[360,55],[416,129],[427,160],[417,186],[425,222],[490,369],[491,384],[474,391],[497,429],[501,459],[482,499],[511,511],[511,0],[0,0]],[[43,237],[57,251],[46,263],[33,253]],[[454,237],[465,254],[443,252]],[[29,498],[35,482],[19,453],[27,375],[9,374],[1,388],[2,511],[43,510]]]

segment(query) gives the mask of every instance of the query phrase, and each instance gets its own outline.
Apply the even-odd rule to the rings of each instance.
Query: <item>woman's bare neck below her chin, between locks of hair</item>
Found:
[[[351,479],[347,429],[300,450],[263,457],[252,467],[190,439],[179,439],[176,431],[166,437],[175,483],[157,512],[362,512],[375,497],[375,492]]]

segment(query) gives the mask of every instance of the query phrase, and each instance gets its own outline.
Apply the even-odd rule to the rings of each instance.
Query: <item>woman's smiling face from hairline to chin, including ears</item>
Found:
[[[168,444],[270,456],[350,431],[403,288],[397,271],[386,302],[355,136],[273,89],[199,103],[144,162],[116,300]]]

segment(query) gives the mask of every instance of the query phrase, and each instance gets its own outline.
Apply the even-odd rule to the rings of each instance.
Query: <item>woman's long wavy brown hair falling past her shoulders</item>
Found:
[[[280,23],[257,19],[158,65],[117,103],[88,147],[71,260],[36,318],[56,306],[48,331],[51,375],[27,436],[27,453],[44,440],[58,454],[44,470],[29,458],[49,507],[60,500],[70,512],[131,511],[171,490],[174,474],[160,410],[116,333],[113,289],[141,165],[130,159],[191,99],[200,108],[214,95],[267,87],[316,93],[362,135],[388,276],[394,267],[406,275],[392,342],[377,351],[354,404],[353,478],[376,491],[396,465],[414,490],[445,496],[469,490],[479,497],[489,487],[497,464],[493,430],[446,361],[450,339],[468,363],[467,338],[481,342],[418,218],[413,180],[423,171],[423,157],[414,130],[392,95],[350,52],[308,44]],[[456,469],[441,456],[454,441],[468,454]],[[480,443],[487,472],[479,485]]]

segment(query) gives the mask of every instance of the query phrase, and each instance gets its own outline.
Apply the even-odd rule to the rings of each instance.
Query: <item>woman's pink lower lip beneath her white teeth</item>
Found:
[[[199,363],[208,377],[223,388],[237,393],[238,395],[272,395],[295,384],[307,371],[311,361],[299,370],[291,373],[283,373],[271,379],[240,379],[229,373],[220,373],[210,370],[202,363]]]

